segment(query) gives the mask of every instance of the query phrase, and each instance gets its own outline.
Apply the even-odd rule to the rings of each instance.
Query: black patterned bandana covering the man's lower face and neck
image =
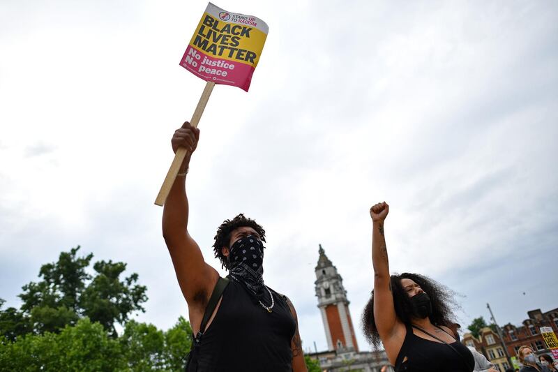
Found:
[[[243,237],[229,249],[229,275],[242,283],[256,299],[265,299],[264,244],[253,235]]]

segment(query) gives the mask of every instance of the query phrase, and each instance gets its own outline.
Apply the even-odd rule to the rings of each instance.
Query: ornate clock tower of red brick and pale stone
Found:
[[[318,265],[315,271],[316,297],[329,350],[358,352],[359,346],[356,345],[354,336],[347,291],[343,288],[343,280],[337,268],[327,258],[322,244],[319,244]]]

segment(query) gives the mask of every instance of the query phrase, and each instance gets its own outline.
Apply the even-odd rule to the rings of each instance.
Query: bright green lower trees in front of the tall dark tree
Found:
[[[27,334],[0,342],[0,371],[182,371],[192,343],[190,324],[167,332],[130,320],[117,338],[82,318],[59,333]]]

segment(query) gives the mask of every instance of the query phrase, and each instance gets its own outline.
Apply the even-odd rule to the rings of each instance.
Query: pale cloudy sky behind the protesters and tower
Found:
[[[188,174],[190,234],[264,225],[265,280],[326,348],[318,244],[356,324],[386,200],[392,271],[458,292],[461,324],[558,307],[556,1],[225,1],[269,36],[248,93],[217,86]],[[0,1],[0,297],[80,244],[148,287],[138,319],[187,306],[153,202],[204,82],[179,66],[204,1]],[[555,160],[552,160],[555,159]],[[224,272],[221,271],[223,274]],[[368,349],[357,331],[361,349]]]

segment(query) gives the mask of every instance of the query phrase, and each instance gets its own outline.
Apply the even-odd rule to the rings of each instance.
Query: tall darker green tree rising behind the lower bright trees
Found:
[[[77,246],[60,253],[57,262],[40,268],[41,281],[23,286],[21,314],[15,309],[10,313],[7,313],[9,309],[0,311],[0,320],[3,317],[8,322],[22,321],[18,327],[10,325],[9,336],[8,329],[4,332],[0,325],[2,334],[13,340],[27,333],[29,327],[36,334],[60,332],[66,325],[75,325],[78,319],[87,316],[116,337],[116,324],[124,325],[134,311],[145,311],[142,304],[147,301],[147,289],[137,284],[137,274],[121,280],[125,263],[100,261],[93,265],[96,274],[91,276],[86,269],[93,254],[79,257],[79,250]]]

